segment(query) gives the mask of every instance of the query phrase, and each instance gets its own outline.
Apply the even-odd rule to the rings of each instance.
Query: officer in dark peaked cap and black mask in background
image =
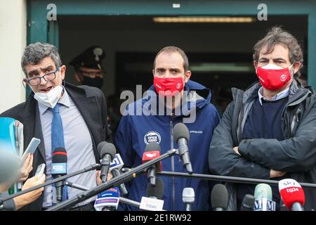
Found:
[[[74,77],[81,85],[95,86],[101,89],[105,71],[101,60],[105,58],[105,51],[100,46],[91,46],[79,56],[75,57],[70,65],[76,71]]]

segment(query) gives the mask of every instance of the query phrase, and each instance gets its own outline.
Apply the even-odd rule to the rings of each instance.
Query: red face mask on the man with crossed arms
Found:
[[[270,91],[282,89],[291,79],[290,69],[292,65],[289,68],[281,68],[272,64],[265,65],[262,68],[257,68],[257,77],[265,89]]]

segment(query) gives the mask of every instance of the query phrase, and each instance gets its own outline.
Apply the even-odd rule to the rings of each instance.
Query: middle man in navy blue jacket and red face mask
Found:
[[[127,167],[142,164],[145,147],[151,141],[159,143],[161,154],[178,148],[178,143],[173,141],[173,127],[178,122],[184,122],[190,131],[188,147],[193,173],[209,174],[209,144],[219,117],[210,103],[211,91],[190,81],[191,71],[188,68],[185,52],[175,46],[167,46],[157,53],[152,70],[154,85],[147,91],[147,96],[128,105],[117,130],[115,143]],[[186,172],[178,155],[162,160],[162,170]],[[212,182],[180,177],[160,178],[164,181],[164,210],[185,210],[182,192],[187,187],[195,190],[193,210],[210,209]],[[147,183],[147,176],[138,175],[128,184],[127,197],[140,202],[146,195]],[[129,205],[121,207],[138,210]]]

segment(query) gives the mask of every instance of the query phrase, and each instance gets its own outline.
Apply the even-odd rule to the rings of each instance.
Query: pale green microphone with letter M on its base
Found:
[[[254,192],[254,211],[275,211],[272,189],[268,184],[258,184]]]

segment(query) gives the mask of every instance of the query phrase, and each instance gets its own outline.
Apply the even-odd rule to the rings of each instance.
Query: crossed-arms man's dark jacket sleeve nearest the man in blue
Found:
[[[232,113],[234,101],[228,105],[220,124],[214,130],[209,148],[209,169],[222,176],[270,179],[270,169],[242,158],[232,150]]]

